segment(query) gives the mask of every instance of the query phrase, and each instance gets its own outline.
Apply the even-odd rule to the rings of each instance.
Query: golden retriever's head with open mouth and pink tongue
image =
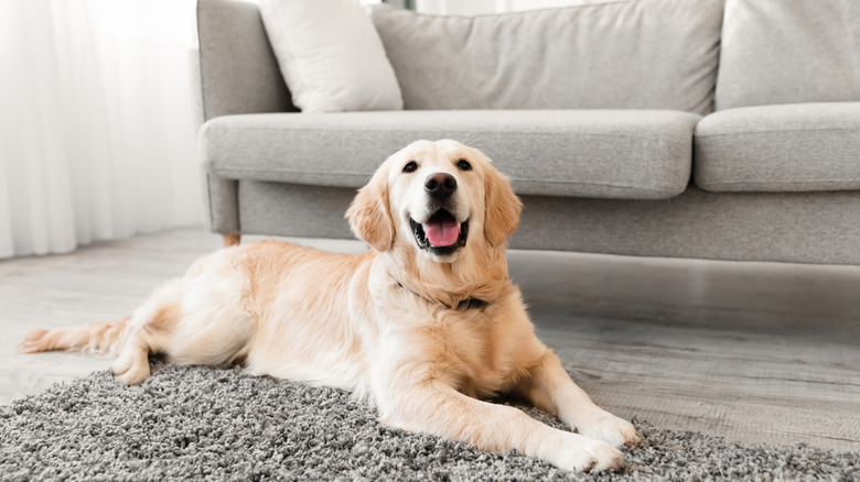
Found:
[[[346,216],[376,251],[407,245],[451,263],[470,249],[503,245],[520,207],[481,151],[451,140],[418,141],[379,166]]]

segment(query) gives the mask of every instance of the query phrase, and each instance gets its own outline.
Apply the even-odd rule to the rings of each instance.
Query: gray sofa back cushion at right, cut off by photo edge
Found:
[[[860,1],[727,0],[717,109],[860,100]]]

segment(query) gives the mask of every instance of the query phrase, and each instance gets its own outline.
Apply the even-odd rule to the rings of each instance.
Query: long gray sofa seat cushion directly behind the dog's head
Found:
[[[206,122],[208,173],[361,187],[407,144],[481,149],[519,194],[662,199],[685,190],[698,114],[667,110],[451,110],[226,116]]]

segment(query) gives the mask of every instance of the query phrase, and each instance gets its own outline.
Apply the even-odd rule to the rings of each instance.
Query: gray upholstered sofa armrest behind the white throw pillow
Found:
[[[197,36],[205,120],[297,111],[256,3],[200,0]]]

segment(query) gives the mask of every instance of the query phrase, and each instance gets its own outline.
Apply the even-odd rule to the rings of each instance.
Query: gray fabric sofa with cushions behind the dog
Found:
[[[860,2],[373,17],[405,110],[301,113],[257,7],[200,0],[206,222],[226,242],[352,238],[377,165],[451,138],[510,176],[512,248],[860,264]]]

